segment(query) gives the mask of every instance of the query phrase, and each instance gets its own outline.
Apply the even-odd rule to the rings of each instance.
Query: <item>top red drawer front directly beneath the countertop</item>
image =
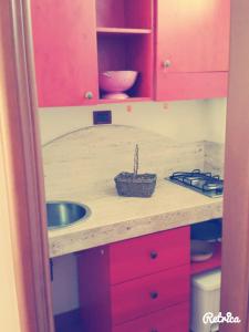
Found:
[[[189,263],[189,227],[156,232],[110,246],[111,283]]]

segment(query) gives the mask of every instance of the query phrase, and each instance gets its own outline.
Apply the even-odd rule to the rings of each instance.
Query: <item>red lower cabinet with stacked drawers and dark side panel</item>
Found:
[[[189,245],[183,227],[82,251],[83,331],[188,332]]]

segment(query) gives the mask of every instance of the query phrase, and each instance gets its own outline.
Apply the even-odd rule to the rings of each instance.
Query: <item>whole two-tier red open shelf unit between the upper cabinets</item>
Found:
[[[137,80],[126,100],[100,103],[148,101],[153,96],[153,1],[95,0],[98,72],[136,71]],[[102,98],[103,96],[103,98]]]

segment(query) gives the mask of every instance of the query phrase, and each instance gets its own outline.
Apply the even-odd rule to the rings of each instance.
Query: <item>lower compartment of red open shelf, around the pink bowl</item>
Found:
[[[127,103],[152,98],[153,35],[97,34],[98,72],[137,71],[135,85],[126,93],[128,100],[104,100],[103,103]],[[100,93],[102,94],[102,92]],[[101,98],[102,101],[102,98]]]

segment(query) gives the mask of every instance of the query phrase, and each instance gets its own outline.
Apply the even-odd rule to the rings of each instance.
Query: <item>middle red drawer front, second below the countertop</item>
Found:
[[[189,266],[111,288],[113,324],[117,325],[189,299]]]

